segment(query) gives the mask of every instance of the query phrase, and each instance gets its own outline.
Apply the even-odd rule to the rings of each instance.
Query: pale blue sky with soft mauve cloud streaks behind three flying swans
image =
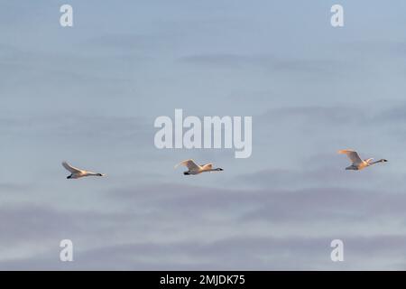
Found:
[[[1,269],[405,268],[404,1],[0,8]],[[156,149],[175,108],[252,116],[252,157]],[[346,172],[341,148],[390,163]],[[184,177],[187,158],[225,172]],[[69,182],[63,160],[108,177]]]

